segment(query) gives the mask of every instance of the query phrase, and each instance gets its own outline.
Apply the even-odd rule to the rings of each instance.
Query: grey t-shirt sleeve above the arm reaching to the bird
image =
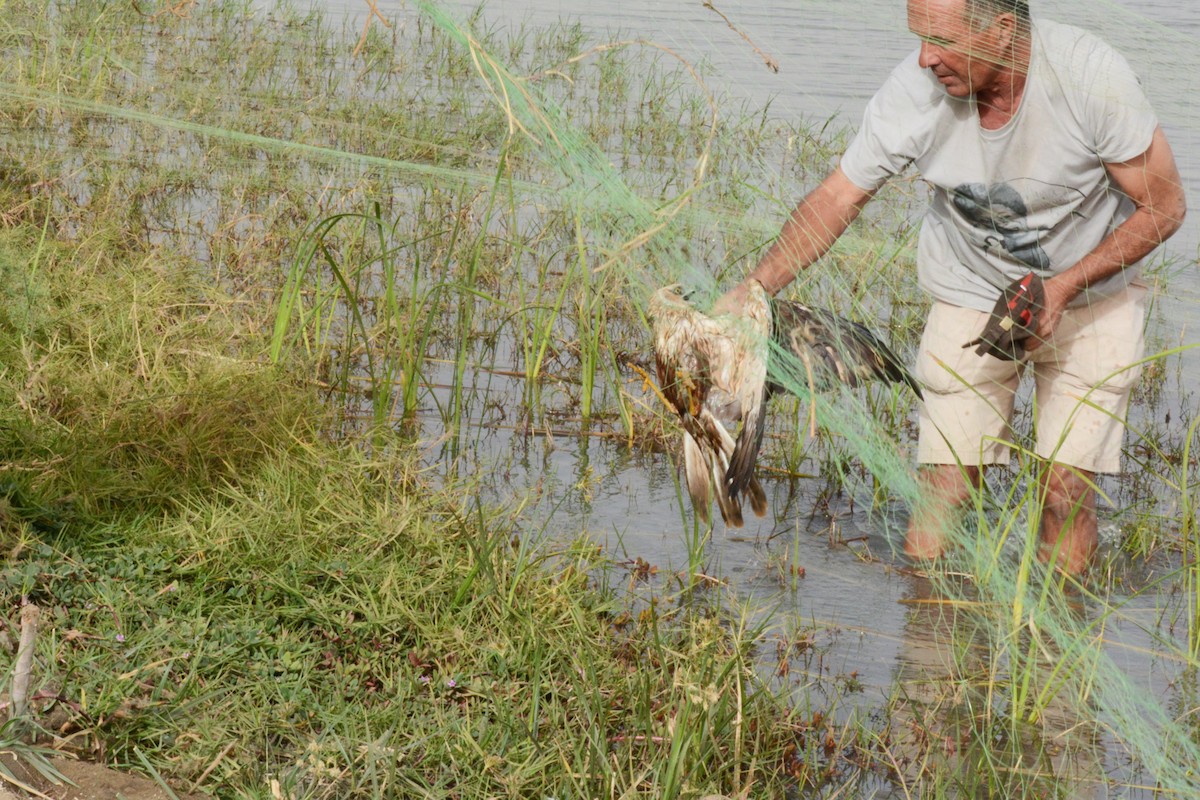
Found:
[[[922,113],[917,55],[905,59],[866,104],[863,124],[841,157],[841,172],[856,186],[875,191],[920,155]],[[928,80],[925,82],[928,83]]]

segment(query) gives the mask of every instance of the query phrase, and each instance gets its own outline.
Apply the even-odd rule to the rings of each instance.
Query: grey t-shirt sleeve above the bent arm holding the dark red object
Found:
[[[1124,56],[1097,38],[1085,48],[1082,119],[1100,161],[1122,163],[1146,152],[1158,118]]]

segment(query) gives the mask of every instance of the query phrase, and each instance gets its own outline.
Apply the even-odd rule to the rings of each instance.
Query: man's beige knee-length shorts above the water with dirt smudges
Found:
[[[917,355],[925,395],[917,461],[1007,464],[1018,441],[1010,428],[1018,385],[1032,369],[1034,452],[1091,473],[1118,471],[1129,391],[1141,374],[1145,315],[1146,288],[1132,284],[1068,308],[1054,337],[1014,363],[962,348],[983,330],[985,312],[935,301]]]

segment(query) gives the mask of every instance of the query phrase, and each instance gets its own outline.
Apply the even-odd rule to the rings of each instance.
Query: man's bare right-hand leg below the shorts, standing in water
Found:
[[[1054,559],[1054,566],[1068,575],[1087,569],[1096,553],[1096,491],[1093,473],[1050,464],[1042,474],[1042,542],[1038,558]]]

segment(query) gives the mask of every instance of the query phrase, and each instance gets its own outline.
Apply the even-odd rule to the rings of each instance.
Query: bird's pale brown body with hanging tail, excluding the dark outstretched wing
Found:
[[[684,429],[692,507],[708,522],[715,499],[725,524],[740,528],[740,494],[756,515],[767,513],[754,468],[764,421],[770,299],[754,284],[740,315],[707,317],[670,285],[650,297],[649,315],[659,385]],[[726,422],[740,422],[736,441]]]

